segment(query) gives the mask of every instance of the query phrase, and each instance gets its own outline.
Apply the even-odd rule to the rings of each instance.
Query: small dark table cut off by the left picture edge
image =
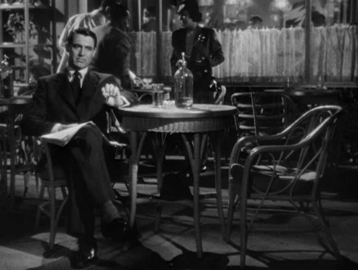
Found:
[[[10,198],[9,198],[9,204],[8,209],[12,210],[13,204],[14,204],[14,196],[15,196],[15,148],[16,148],[16,138],[15,138],[15,116],[18,113],[21,113],[25,106],[28,105],[31,102],[31,96],[15,96],[10,98],[0,98],[0,107],[5,108],[5,110],[2,111],[2,113],[6,114],[6,124],[5,124],[5,132],[8,134],[8,136],[5,136],[5,138],[8,138],[9,142],[9,152],[10,152]],[[6,144],[6,143],[5,143]],[[3,145],[5,145],[3,142]],[[6,147],[3,147],[6,148]],[[1,157],[2,157],[2,164],[4,164],[4,167],[2,167],[1,172],[1,189],[0,193],[3,196],[3,199],[7,201],[8,196],[8,190],[7,190],[7,173],[6,173],[6,149],[2,149],[1,151]]]

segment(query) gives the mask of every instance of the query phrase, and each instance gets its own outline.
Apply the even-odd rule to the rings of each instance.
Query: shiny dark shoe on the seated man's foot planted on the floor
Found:
[[[94,264],[97,260],[97,243],[93,240],[80,239],[78,251],[71,258],[72,268],[84,268]]]

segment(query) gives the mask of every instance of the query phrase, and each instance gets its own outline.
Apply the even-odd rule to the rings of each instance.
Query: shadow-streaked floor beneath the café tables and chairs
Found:
[[[203,176],[201,191],[210,191],[210,173]],[[227,178],[226,178],[227,179]],[[223,182],[227,181],[223,178]],[[144,179],[138,190],[150,194],[156,190],[156,179]],[[225,187],[225,184],[224,184]],[[116,184],[123,194],[125,186]],[[41,220],[39,231],[33,231],[37,206],[34,179],[28,185],[26,198],[22,196],[23,179],[17,176],[14,211],[0,217],[0,269],[69,269],[68,257],[77,249],[77,239],[65,233],[62,218],[56,237],[56,247],[46,252],[49,223]],[[58,194],[59,195],[59,194]],[[223,190],[227,201],[227,189]],[[60,195],[59,195],[60,198]],[[255,203],[255,202],[252,202]],[[266,216],[263,224],[280,228],[256,231],[248,238],[248,269],[358,269],[358,200],[331,197],[323,201],[331,231],[343,261],[337,262],[324,254],[312,232],[292,232],[288,228],[308,226],[302,217],[283,219]],[[227,205],[225,204],[225,214]],[[137,225],[141,233],[138,243],[122,246],[105,240],[97,221],[96,239],[99,260],[90,269],[238,269],[239,215],[235,213],[232,243],[223,241],[213,199],[202,201],[202,239],[204,256],[196,258],[192,209],[178,204],[163,204],[165,217],[160,232],[155,234],[153,204],[138,206]],[[271,226],[272,227],[272,226]],[[322,257],[321,257],[322,256]]]

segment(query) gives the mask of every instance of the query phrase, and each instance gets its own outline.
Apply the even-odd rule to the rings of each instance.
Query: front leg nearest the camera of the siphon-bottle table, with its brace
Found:
[[[200,173],[200,134],[194,133],[194,146],[193,151],[191,148],[191,142],[189,142],[186,134],[182,134],[183,141],[185,143],[190,165],[193,172],[194,180],[194,226],[195,226],[195,241],[196,241],[196,254],[198,258],[203,256],[203,247],[201,243],[200,232],[200,211],[199,211],[199,173]]]

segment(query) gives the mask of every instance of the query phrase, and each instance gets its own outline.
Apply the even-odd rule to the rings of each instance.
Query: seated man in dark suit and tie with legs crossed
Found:
[[[85,28],[70,34],[65,72],[39,79],[31,108],[21,122],[24,133],[33,136],[89,120],[96,124],[80,129],[64,147],[53,145],[51,149],[54,160],[67,175],[84,228],[79,250],[71,261],[73,267],[88,266],[96,259],[94,208],[100,210],[104,237],[126,241],[134,235],[113,204],[110,174],[116,167],[106,161],[114,160],[114,150],[102,138],[107,127],[106,110],[129,105],[134,102],[134,95],[120,91],[112,75],[88,69],[96,42],[95,34]]]

